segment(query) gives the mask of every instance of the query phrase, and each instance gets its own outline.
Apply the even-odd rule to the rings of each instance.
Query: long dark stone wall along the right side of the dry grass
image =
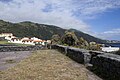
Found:
[[[69,58],[84,64],[88,69],[105,80],[120,80],[120,56],[100,51],[52,45]]]

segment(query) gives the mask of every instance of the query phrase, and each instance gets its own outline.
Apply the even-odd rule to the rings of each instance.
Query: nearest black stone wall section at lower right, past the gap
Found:
[[[120,56],[100,54],[91,60],[92,71],[107,80],[120,80]]]

